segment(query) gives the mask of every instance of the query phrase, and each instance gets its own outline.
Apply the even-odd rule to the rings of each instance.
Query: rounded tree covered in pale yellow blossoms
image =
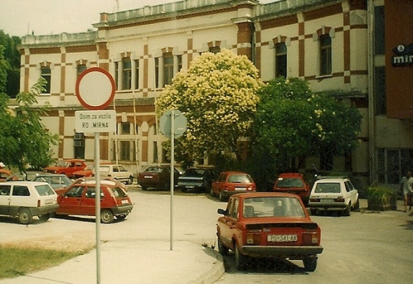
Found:
[[[178,109],[187,118],[187,131],[176,140],[177,160],[237,154],[237,141],[251,129],[260,87],[253,63],[230,50],[206,52],[179,72],[156,100],[158,114]]]

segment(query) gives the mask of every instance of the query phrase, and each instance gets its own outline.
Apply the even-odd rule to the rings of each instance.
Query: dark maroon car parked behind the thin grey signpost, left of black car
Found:
[[[173,168],[173,185],[178,184],[180,173],[176,168]],[[161,190],[169,190],[171,187],[171,168],[170,166],[149,166],[138,175],[138,184],[142,186],[142,190],[147,188],[160,188]]]

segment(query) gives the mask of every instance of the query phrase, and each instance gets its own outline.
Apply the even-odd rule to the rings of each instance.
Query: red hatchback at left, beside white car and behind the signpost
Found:
[[[74,182],[68,188],[56,189],[59,209],[56,215],[96,215],[96,179]],[[132,204],[127,192],[116,182],[100,180],[100,221],[112,223],[114,217],[123,220],[131,212]]]

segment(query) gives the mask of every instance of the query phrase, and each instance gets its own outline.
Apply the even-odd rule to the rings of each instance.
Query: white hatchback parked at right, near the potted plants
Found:
[[[350,216],[351,210],[359,209],[359,193],[350,179],[323,177],[314,183],[308,207],[312,215],[323,210],[339,210]]]

